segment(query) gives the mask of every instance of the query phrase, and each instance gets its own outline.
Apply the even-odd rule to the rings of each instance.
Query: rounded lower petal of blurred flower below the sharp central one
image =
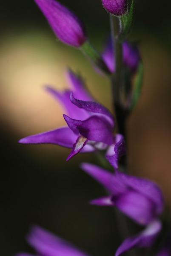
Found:
[[[140,225],[149,224],[157,217],[154,203],[135,191],[127,191],[112,198],[114,205]]]

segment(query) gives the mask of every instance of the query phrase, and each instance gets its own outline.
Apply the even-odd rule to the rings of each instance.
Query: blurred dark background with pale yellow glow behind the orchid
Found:
[[[145,64],[142,96],[128,120],[130,172],[156,181],[171,207],[171,2],[136,0],[131,41]],[[61,0],[85,22],[102,50],[109,34],[100,0]],[[19,145],[28,135],[64,125],[60,105],[43,89],[67,88],[66,67],[80,70],[94,97],[111,109],[110,84],[94,72],[81,52],[61,44],[33,0],[3,1],[0,8],[0,255],[32,252],[24,239],[39,224],[92,256],[110,256],[118,245],[114,212],[88,205],[104,195],[79,164],[96,162],[82,154],[66,163],[69,150],[54,145]]]

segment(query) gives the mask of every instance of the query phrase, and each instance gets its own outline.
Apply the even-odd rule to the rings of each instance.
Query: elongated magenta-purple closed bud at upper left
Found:
[[[55,0],[35,0],[57,38],[64,44],[81,47],[86,41],[81,20]]]

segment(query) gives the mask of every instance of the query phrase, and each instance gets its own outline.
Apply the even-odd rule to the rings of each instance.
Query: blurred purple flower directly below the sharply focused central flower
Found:
[[[112,174],[89,163],[83,163],[81,168],[102,184],[110,194],[91,201],[91,204],[117,207],[140,225],[150,224],[162,213],[164,207],[162,192],[150,180],[119,171]]]

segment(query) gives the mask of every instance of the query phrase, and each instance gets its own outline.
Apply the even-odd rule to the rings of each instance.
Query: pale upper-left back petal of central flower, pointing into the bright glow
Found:
[[[46,91],[63,105],[63,108],[68,113],[68,115],[71,116],[71,118],[84,120],[89,117],[89,114],[84,109],[79,109],[71,103],[70,90],[58,92],[54,88],[47,86]]]

